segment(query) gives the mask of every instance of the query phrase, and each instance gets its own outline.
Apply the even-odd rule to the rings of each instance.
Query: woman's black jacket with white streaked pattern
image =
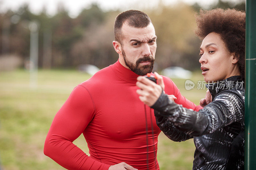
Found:
[[[182,107],[162,93],[156,123],[173,141],[194,138],[193,169],[244,169],[244,86],[240,76],[207,84],[212,102],[198,112]]]

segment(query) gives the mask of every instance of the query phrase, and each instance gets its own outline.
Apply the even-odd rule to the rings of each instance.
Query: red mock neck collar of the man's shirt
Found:
[[[119,59],[116,63],[110,65],[110,68],[116,74],[117,77],[129,83],[136,83],[138,74],[134,73],[132,70],[125,68],[120,62]]]

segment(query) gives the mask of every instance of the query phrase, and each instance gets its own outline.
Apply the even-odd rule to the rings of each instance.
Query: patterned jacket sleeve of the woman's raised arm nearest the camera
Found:
[[[244,118],[244,100],[232,92],[221,92],[198,112],[182,107],[162,93],[152,106],[159,116],[170,120],[178,129],[191,136],[209,134]]]

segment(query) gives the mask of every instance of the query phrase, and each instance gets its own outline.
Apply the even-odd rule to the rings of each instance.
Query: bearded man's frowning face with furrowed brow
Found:
[[[125,22],[122,35],[121,49],[125,65],[140,76],[152,72],[156,54],[156,33],[153,24],[135,28]]]

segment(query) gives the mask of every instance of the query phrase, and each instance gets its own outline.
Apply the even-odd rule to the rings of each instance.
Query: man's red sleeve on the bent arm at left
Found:
[[[44,143],[44,154],[67,169],[106,169],[72,142],[83,133],[95,113],[89,91],[78,85],[55,115]]]

